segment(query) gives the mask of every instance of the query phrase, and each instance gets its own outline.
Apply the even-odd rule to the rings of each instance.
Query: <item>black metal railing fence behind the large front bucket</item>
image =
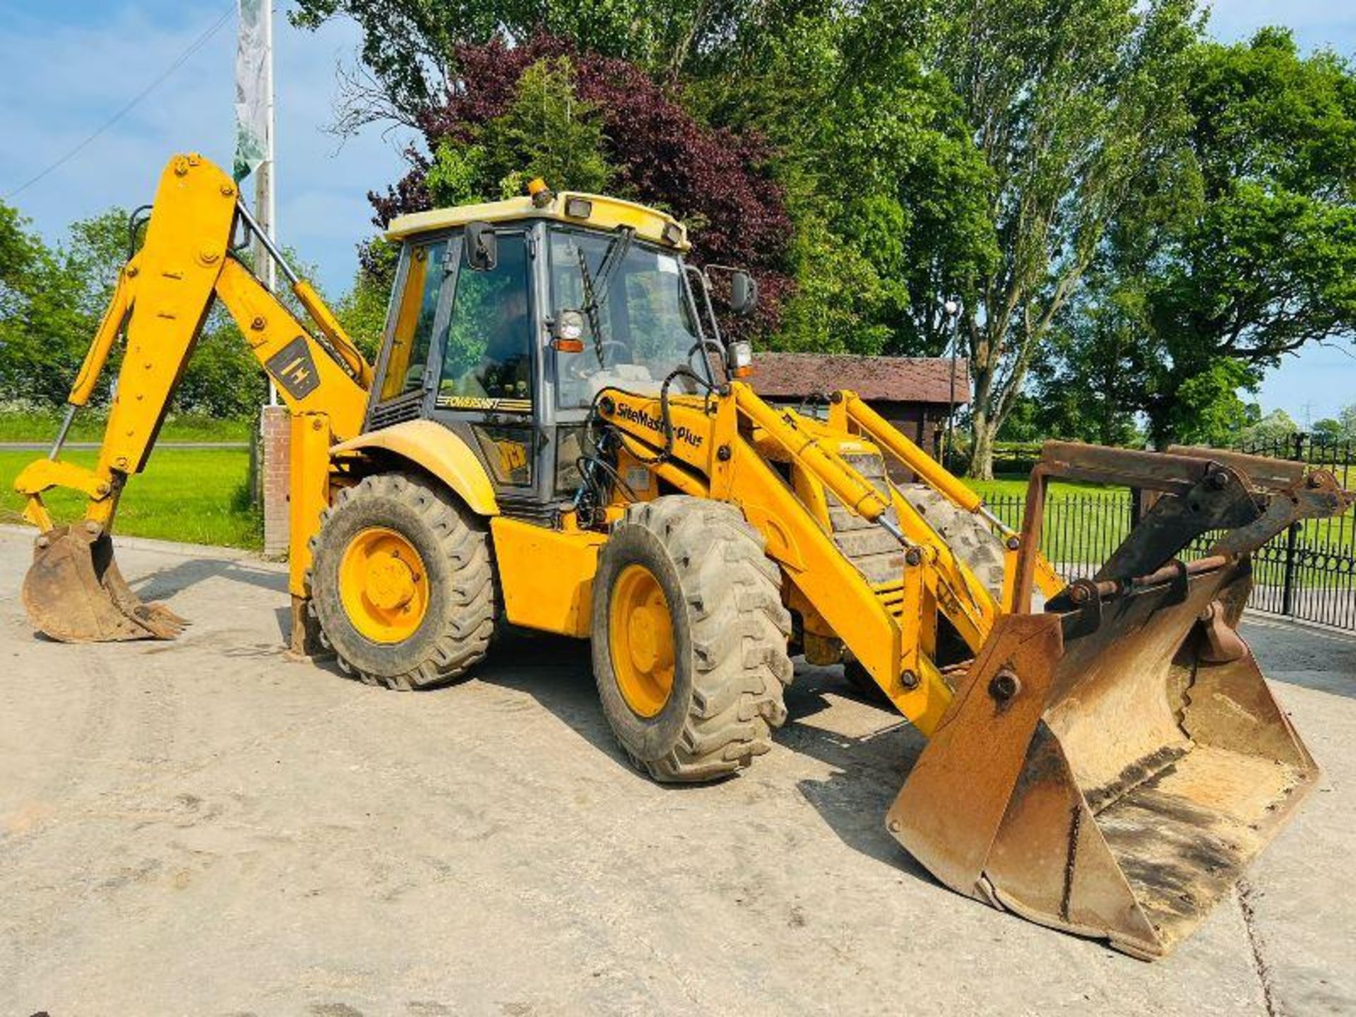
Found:
[[[1287,435],[1239,449],[1330,469],[1342,487],[1356,487],[1356,442]],[[1021,527],[1024,495],[986,499],[998,518]],[[1041,552],[1070,578],[1090,576],[1132,526],[1128,491],[1051,487]],[[1197,551],[1205,551],[1203,544]],[[1356,515],[1310,519],[1291,526],[1253,555],[1254,610],[1356,631]]]

